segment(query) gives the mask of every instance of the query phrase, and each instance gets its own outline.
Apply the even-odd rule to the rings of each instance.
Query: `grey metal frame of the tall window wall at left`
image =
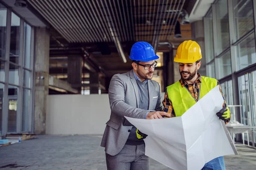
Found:
[[[6,6],[6,4],[1,3],[3,6]],[[7,7],[6,7],[7,8]],[[20,17],[20,37],[19,37],[19,62],[13,63],[10,61],[10,38],[11,38],[11,17],[12,13],[20,17],[19,14],[17,14],[15,11],[12,10],[12,8],[7,8],[7,15],[6,15],[6,49],[5,49],[5,58],[0,58],[1,61],[5,63],[4,67],[4,82],[0,81],[4,85],[3,89],[3,113],[2,113],[2,133],[0,133],[1,136],[6,136],[6,134],[9,134],[8,132],[8,110],[9,110],[9,101],[8,99],[8,90],[9,85],[15,86],[18,88],[17,91],[17,118],[16,118],[16,132],[15,133],[32,133],[33,132],[33,114],[34,114],[34,96],[35,96],[35,84],[34,84],[34,48],[35,48],[35,27],[32,26],[29,22],[25,21],[23,17]],[[31,27],[31,39],[30,39],[30,68],[26,68],[25,65],[23,65],[24,60],[24,24],[28,24]],[[9,83],[9,64],[18,66],[18,85]],[[23,80],[23,71],[27,70],[29,71],[29,87],[25,87],[23,82],[26,80]],[[22,131],[22,119],[23,119],[23,89],[28,89],[31,91],[29,95],[29,116],[28,116],[28,131]],[[10,132],[13,133],[13,132]]]

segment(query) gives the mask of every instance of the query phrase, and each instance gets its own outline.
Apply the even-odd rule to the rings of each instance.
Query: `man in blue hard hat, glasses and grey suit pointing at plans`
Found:
[[[108,170],[148,170],[145,156],[145,136],[124,116],[137,119],[161,119],[170,115],[162,112],[160,86],[153,78],[157,66],[154,48],[148,42],[136,42],[131,48],[133,69],[115,74],[108,95],[111,108],[101,146],[105,147]],[[137,137],[139,136],[139,137]]]

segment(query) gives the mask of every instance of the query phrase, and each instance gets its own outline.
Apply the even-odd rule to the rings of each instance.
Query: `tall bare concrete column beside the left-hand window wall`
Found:
[[[45,134],[46,98],[49,93],[49,29],[35,28],[34,133]]]

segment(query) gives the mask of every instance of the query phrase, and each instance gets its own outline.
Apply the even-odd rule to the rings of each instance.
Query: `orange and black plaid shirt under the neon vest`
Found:
[[[200,85],[201,85],[201,75],[198,73],[198,79],[195,80],[195,84],[187,84],[186,82],[182,81],[181,79],[179,81],[180,81],[181,87],[185,87],[189,91],[189,93],[196,99],[196,101],[198,101],[199,90],[200,90]],[[227,103],[226,103],[224,94],[221,91],[221,85],[218,81],[217,81],[217,85],[219,85],[221,95],[224,99],[223,107],[225,107],[225,106],[227,106]],[[164,108],[163,108],[164,112],[171,114],[171,117],[175,117],[175,111],[172,107],[172,101],[169,100],[167,91],[164,95],[163,106],[164,106]],[[167,118],[167,117],[165,117],[165,118]],[[227,119],[225,121],[225,123],[227,124],[229,121],[230,121],[230,119]]]

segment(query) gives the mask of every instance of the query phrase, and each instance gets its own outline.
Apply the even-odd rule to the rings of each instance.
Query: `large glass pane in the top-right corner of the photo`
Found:
[[[233,0],[236,40],[253,28],[253,1]]]

